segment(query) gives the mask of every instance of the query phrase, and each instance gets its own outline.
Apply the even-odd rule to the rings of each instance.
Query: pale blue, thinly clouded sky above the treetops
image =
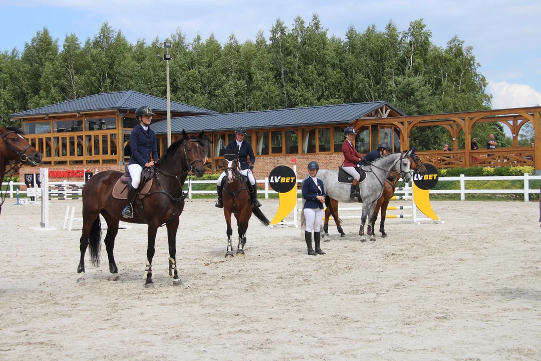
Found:
[[[277,18],[291,27],[295,16],[308,23],[314,13],[341,38],[349,25],[383,30],[392,20],[402,31],[423,18],[434,44],[445,47],[457,35],[472,45],[493,109],[541,105],[541,1],[533,0],[0,0],[0,51],[22,50],[44,26],[59,44],[71,32],[84,42],[105,21],[132,43],[179,27],[188,40],[214,32],[222,44],[230,34],[244,42],[259,30],[268,38]]]

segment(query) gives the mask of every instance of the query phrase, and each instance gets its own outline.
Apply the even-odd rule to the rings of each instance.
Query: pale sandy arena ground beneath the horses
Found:
[[[535,202],[436,201],[445,224],[387,220],[390,237],[365,243],[359,221],[346,220],[347,237],[329,227],[317,257],[299,229],[252,218],[246,257],[223,261],[222,211],[187,201],[177,237],[185,286],[167,276],[162,227],[153,290],[143,288],[146,226],[118,233],[119,280],[103,246],[97,269],[87,251],[77,285],[81,224],[62,223],[67,205],[81,216],[81,201],[50,202],[54,232],[31,231],[41,209],[14,202],[0,216],[2,360],[541,359]],[[278,201],[262,204],[272,219]]]

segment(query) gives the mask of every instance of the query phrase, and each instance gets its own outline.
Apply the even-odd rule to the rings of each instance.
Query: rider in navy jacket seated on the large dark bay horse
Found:
[[[156,134],[150,129],[152,109],[147,106],[141,106],[135,110],[135,118],[139,124],[131,130],[130,147],[131,157],[128,165],[128,172],[131,177],[131,186],[128,188],[128,204],[122,211],[124,218],[133,218],[133,201],[137,195],[137,188],[141,182],[141,173],[143,167],[153,167],[154,162],[158,161],[158,147],[156,144]],[[153,161],[150,160],[152,153]]]

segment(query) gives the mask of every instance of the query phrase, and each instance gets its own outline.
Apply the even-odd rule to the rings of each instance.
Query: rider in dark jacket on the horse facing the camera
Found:
[[[235,128],[235,139],[229,142],[226,147],[226,153],[230,150],[237,152],[237,159],[239,161],[240,169],[242,175],[248,176],[248,192],[252,195],[253,205],[255,208],[261,207],[261,203],[258,201],[258,192],[257,187],[255,186],[255,178],[252,173],[255,163],[254,150],[252,145],[244,140],[246,135],[245,127]],[[248,163],[248,156],[250,157],[250,162]],[[222,201],[222,179],[226,176],[226,172],[222,172],[220,178],[216,181],[216,191],[218,192],[218,200],[216,201],[216,207],[223,208]]]

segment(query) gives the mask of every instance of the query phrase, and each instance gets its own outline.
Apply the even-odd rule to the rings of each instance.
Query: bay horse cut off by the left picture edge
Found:
[[[34,146],[28,143],[23,135],[23,131],[18,127],[0,127],[0,135],[2,136],[2,144],[0,145],[0,214],[2,213],[2,205],[8,195],[6,188],[2,195],[2,182],[4,174],[10,172],[11,169],[17,167],[19,163],[28,164],[32,167],[41,164],[42,154],[39,153]],[[8,170],[5,170],[9,161],[14,161],[15,164]]]

